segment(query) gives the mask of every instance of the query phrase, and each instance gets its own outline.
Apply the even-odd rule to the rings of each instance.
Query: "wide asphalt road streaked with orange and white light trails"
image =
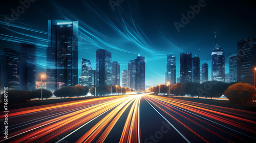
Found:
[[[0,142],[256,142],[256,112],[147,94],[1,117]]]

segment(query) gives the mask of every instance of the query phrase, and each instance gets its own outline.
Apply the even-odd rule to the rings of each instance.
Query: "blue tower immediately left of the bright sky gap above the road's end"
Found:
[[[135,62],[135,90],[145,90],[145,58],[137,56]]]

